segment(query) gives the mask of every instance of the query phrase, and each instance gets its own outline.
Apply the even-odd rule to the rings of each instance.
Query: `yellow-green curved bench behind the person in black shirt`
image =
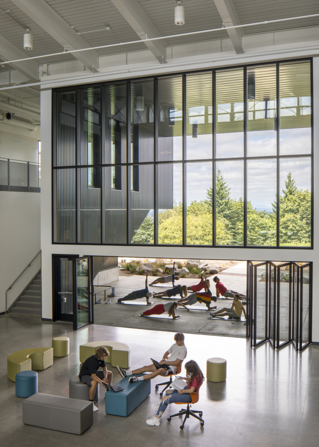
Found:
[[[91,355],[95,354],[95,351],[100,346],[105,346],[109,350],[109,357],[105,358],[105,363],[111,363],[113,367],[118,365],[121,368],[130,367],[130,346],[120,342],[90,342],[80,345],[80,362],[84,363],[85,360]]]

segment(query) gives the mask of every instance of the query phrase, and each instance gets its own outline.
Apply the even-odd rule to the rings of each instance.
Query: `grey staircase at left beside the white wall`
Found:
[[[24,313],[27,315],[42,315],[41,271],[21,293],[10,309],[10,312]]]

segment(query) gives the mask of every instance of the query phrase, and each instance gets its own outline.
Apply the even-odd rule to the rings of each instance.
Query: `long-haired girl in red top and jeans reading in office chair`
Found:
[[[179,377],[179,379],[186,380],[186,386],[182,390],[173,389],[167,391],[165,396],[162,397],[160,404],[153,404],[152,407],[157,410],[155,416],[147,419],[147,425],[160,425],[161,417],[166,410],[168,404],[173,402],[185,402],[189,404],[192,401],[190,394],[196,392],[201,388],[203,380],[205,380],[200,367],[194,360],[189,360],[185,363],[186,377]]]

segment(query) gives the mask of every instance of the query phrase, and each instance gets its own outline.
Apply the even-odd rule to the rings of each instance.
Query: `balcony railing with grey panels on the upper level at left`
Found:
[[[0,190],[40,192],[40,164],[0,158]]]

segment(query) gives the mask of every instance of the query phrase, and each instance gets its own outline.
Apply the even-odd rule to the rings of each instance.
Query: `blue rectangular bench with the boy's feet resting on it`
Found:
[[[138,377],[140,375],[144,374],[137,374]],[[125,377],[117,385],[124,389],[118,392],[105,392],[106,414],[127,417],[151,394],[151,380],[129,384],[129,378]]]

